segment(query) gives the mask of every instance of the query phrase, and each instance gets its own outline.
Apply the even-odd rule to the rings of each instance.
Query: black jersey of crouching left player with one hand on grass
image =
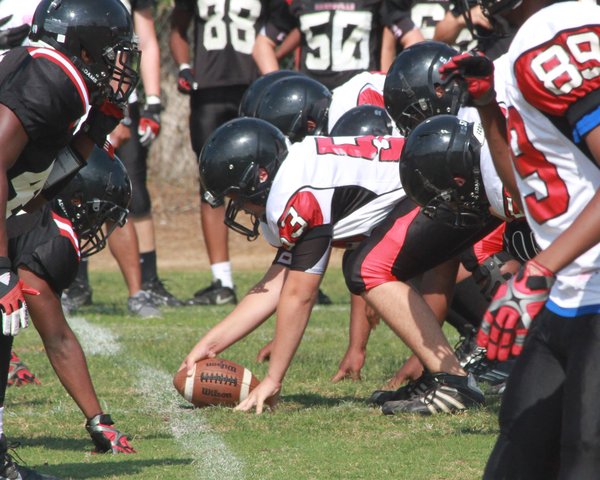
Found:
[[[35,213],[11,219],[16,230],[26,230],[8,241],[8,257],[13,266],[27,267],[43,278],[60,295],[77,274],[79,240],[73,225],[47,204]],[[18,224],[27,224],[19,228]]]

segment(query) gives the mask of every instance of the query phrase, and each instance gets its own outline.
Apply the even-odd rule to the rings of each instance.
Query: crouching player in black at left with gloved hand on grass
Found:
[[[114,228],[124,224],[130,198],[131,183],[121,161],[94,147],[86,166],[51,203],[9,220],[12,231],[24,232],[9,238],[9,258],[19,278],[39,292],[25,295],[29,315],[61,383],[86,417],[85,428],[98,453],[134,450],[110,415],[102,412],[60,295],[77,273],[81,257],[99,252]],[[25,469],[14,464],[5,447],[2,435],[0,479],[20,478],[11,477],[11,469],[16,474]]]

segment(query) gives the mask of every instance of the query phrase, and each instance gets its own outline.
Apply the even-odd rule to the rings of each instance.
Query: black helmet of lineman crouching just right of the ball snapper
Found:
[[[454,115],[427,119],[408,135],[400,180],[424,214],[456,228],[479,226],[488,219],[479,166],[484,138],[480,124]]]

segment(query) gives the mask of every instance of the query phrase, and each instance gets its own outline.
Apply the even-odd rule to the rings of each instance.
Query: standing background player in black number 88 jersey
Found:
[[[170,47],[179,66],[178,90],[190,95],[190,136],[196,159],[208,136],[236,118],[242,96],[258,77],[252,48],[267,15],[287,11],[283,0],[226,2],[222,9],[205,0],[176,0],[171,16]],[[241,10],[240,10],[241,9]],[[243,13],[242,13],[243,12]],[[190,61],[188,30],[194,24],[194,57]],[[190,65],[192,63],[192,65]],[[189,303],[237,303],[228,248],[225,208],[211,208],[200,192],[202,232],[213,280]]]

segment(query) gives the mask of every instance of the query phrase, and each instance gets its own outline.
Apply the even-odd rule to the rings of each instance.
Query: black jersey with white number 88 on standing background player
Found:
[[[283,0],[175,0],[194,15],[194,71],[199,88],[250,85],[258,77],[252,49],[267,12],[287,8]]]

